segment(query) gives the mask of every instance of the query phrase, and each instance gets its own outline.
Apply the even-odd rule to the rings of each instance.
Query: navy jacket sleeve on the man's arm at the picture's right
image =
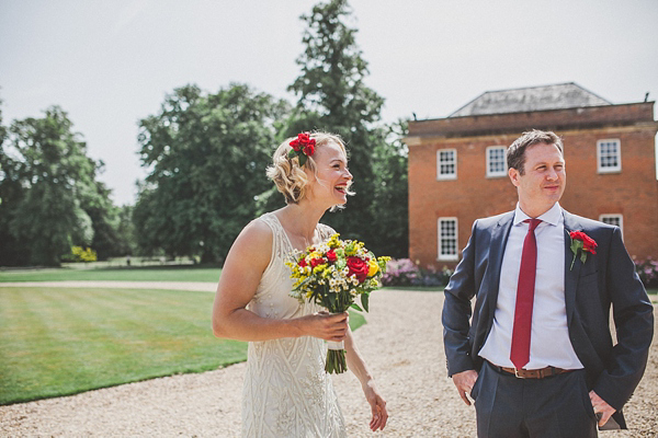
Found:
[[[606,261],[606,289],[612,301],[617,344],[593,390],[620,411],[644,374],[654,336],[654,306],[635,272],[621,231],[615,228]]]

